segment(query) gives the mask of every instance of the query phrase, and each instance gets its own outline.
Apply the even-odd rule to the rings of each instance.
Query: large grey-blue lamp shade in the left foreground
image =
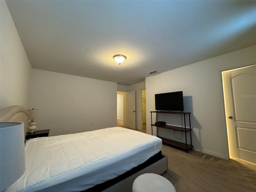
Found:
[[[0,122],[0,191],[18,180],[24,171],[24,124]]]

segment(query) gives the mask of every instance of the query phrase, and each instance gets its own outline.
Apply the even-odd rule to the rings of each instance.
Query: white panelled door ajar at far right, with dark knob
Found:
[[[230,158],[256,164],[256,66],[222,77]]]

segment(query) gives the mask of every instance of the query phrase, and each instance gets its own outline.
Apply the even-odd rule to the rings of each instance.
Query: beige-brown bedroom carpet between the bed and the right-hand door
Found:
[[[170,180],[176,192],[256,192],[256,165],[225,160],[197,151],[163,145]]]

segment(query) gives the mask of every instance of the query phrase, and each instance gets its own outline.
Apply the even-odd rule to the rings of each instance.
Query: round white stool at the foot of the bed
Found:
[[[132,192],[176,192],[176,190],[173,184],[163,176],[145,173],[134,180]]]

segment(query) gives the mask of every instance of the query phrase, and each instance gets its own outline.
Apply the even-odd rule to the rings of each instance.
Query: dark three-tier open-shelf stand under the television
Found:
[[[174,147],[177,147],[177,148],[180,148],[180,149],[183,149],[183,150],[186,150],[186,152],[188,152],[188,150],[192,149],[193,148],[193,145],[192,145],[192,136],[191,136],[191,123],[190,123],[190,112],[178,112],[178,111],[150,111],[151,113],[151,134],[153,135],[153,126],[156,127],[156,133],[158,136],[158,127],[160,128],[165,128],[165,129],[170,129],[170,130],[176,130],[176,131],[181,131],[181,132],[185,132],[185,140],[186,142],[185,143],[182,143],[182,142],[178,142],[178,141],[174,141],[174,140],[170,140],[170,139],[167,139],[167,138],[163,138],[163,137],[159,137],[160,139],[162,139],[162,142],[164,144],[168,144],[168,145],[171,145],[171,146],[174,146]],[[184,127],[180,127],[180,126],[172,126],[172,125],[156,125],[156,124],[153,124],[152,123],[152,113],[156,113],[156,122],[158,122],[158,114],[162,114],[162,113],[165,113],[165,114],[183,114],[184,115]],[[188,116],[189,118],[189,128],[186,127],[186,116]],[[187,142],[187,133],[190,134],[190,144],[188,144]]]

